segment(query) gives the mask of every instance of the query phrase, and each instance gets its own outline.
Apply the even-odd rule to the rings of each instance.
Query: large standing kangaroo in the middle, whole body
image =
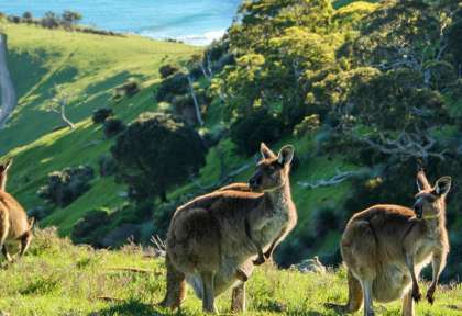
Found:
[[[215,297],[233,287],[233,311],[244,309],[245,287],[237,271],[251,273],[252,258],[263,245],[265,258],[295,227],[289,170],[294,148],[276,156],[264,144],[263,159],[246,190],[218,190],[178,207],[167,235],[167,293],[162,306],[177,308],[186,281],[215,313]],[[234,302],[235,298],[235,302]]]

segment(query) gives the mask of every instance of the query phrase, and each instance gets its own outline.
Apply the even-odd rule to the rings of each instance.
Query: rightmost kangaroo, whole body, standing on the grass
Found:
[[[375,205],[348,223],[341,240],[349,284],[349,302],[340,306],[343,313],[356,312],[364,300],[364,315],[371,316],[373,298],[380,302],[403,298],[402,315],[413,316],[414,302],[421,298],[418,278],[430,261],[433,276],[427,300],[433,303],[449,252],[446,196],[451,178],[442,177],[431,187],[421,170],[417,184],[414,211]]]

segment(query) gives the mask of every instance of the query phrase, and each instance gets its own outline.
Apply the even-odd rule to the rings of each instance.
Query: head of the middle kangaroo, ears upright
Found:
[[[260,151],[263,159],[256,165],[255,173],[249,180],[250,188],[256,192],[268,192],[282,188],[289,178],[294,147],[286,145],[276,156],[262,143]]]

